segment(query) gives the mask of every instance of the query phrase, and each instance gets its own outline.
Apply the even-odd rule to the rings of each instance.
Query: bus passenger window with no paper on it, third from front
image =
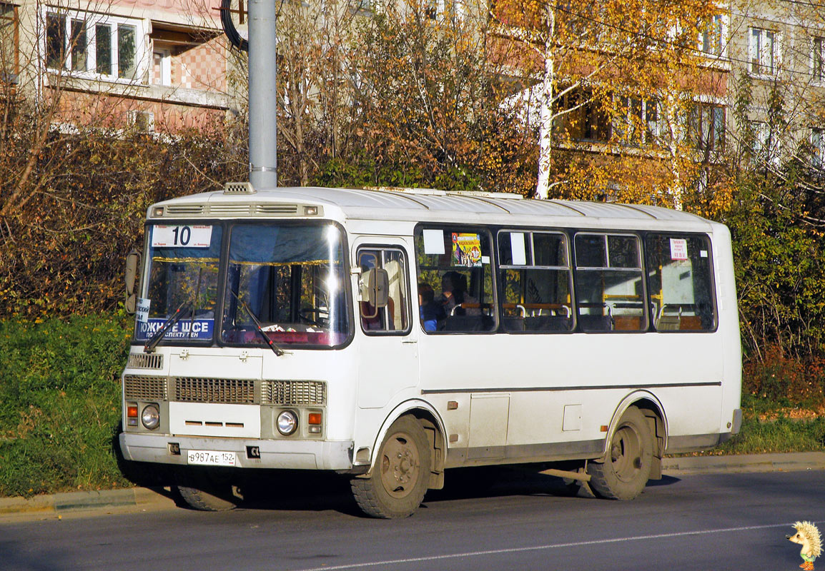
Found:
[[[639,238],[580,233],[575,245],[577,312],[582,330],[646,330]]]

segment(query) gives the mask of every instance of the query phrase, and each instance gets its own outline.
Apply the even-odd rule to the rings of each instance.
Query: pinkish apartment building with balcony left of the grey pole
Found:
[[[59,98],[56,122],[174,132],[232,105],[205,0],[0,0],[0,86]]]

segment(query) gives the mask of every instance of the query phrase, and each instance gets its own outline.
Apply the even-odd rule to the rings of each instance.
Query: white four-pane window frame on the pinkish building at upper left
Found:
[[[66,59],[60,68],[54,68],[48,62],[48,32],[46,22],[50,15],[59,16],[64,19],[64,34],[66,39]],[[143,84],[148,77],[148,64],[151,61],[151,51],[148,50],[148,24],[147,21],[139,18],[128,18],[125,16],[113,16],[111,14],[100,14],[97,12],[82,12],[77,10],[65,10],[55,7],[44,7],[41,12],[43,22],[42,38],[40,39],[40,53],[43,54],[41,64],[43,68],[51,73],[61,73],[71,77],[83,79],[94,79],[98,81]],[[85,70],[73,70],[72,46],[69,45],[72,39],[72,22],[82,21],[85,25],[86,33],[86,58]],[[97,73],[97,26],[111,26],[111,73]],[[118,28],[119,26],[131,26],[134,28],[134,77],[118,77],[120,73],[118,58]]]

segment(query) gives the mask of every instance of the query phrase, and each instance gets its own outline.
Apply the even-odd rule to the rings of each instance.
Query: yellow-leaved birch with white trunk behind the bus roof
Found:
[[[670,173],[658,176],[651,190],[669,193],[666,202],[678,204],[684,185],[680,172],[691,162],[685,161],[680,125],[691,102],[685,94],[718,87],[708,84],[697,45],[717,10],[710,1],[493,5],[497,35],[520,46],[514,63],[521,77],[532,80],[520,103],[530,107],[539,131],[538,197],[547,198],[553,190],[592,198],[577,188],[584,182],[579,175],[591,171],[584,184],[591,193],[613,185],[622,198],[641,199],[622,172],[638,171],[629,166],[641,164],[637,159],[647,154],[659,163],[649,171]],[[653,152],[625,152],[629,147]],[[577,161],[581,153],[563,153],[567,165],[559,167],[555,153],[565,148],[601,158]],[[629,160],[615,158],[622,156]]]

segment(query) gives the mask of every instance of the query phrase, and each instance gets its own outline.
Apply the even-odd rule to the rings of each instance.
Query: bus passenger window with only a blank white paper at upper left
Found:
[[[502,329],[569,331],[571,274],[567,237],[560,233],[498,232]]]

